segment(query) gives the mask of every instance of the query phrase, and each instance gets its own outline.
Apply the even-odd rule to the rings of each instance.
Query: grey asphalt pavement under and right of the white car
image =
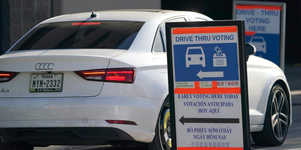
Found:
[[[252,142],[256,150],[301,150],[301,67],[286,66],[287,77],[291,95],[293,124],[288,128],[285,142],[278,147],[259,147]],[[45,148],[34,148],[34,150],[147,150],[147,148],[114,148],[112,146],[49,146]]]

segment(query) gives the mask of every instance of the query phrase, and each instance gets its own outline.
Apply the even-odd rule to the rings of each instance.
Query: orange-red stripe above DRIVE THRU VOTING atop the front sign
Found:
[[[224,33],[237,32],[236,26],[231,27],[194,27],[172,29],[172,34],[194,34],[194,33]]]

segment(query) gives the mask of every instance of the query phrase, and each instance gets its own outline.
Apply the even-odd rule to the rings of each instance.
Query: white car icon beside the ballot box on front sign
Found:
[[[189,65],[202,65],[205,67],[205,54],[202,47],[187,47],[186,67]]]

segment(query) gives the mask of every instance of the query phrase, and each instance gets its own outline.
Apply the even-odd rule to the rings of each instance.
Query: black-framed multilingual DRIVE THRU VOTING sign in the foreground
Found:
[[[250,149],[244,21],[167,22],[166,35],[172,149]]]

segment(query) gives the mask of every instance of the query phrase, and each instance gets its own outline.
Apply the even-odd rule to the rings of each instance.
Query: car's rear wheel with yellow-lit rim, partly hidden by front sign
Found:
[[[158,117],[155,137],[148,144],[149,150],[170,150],[172,147],[169,108],[169,98],[166,98]]]

